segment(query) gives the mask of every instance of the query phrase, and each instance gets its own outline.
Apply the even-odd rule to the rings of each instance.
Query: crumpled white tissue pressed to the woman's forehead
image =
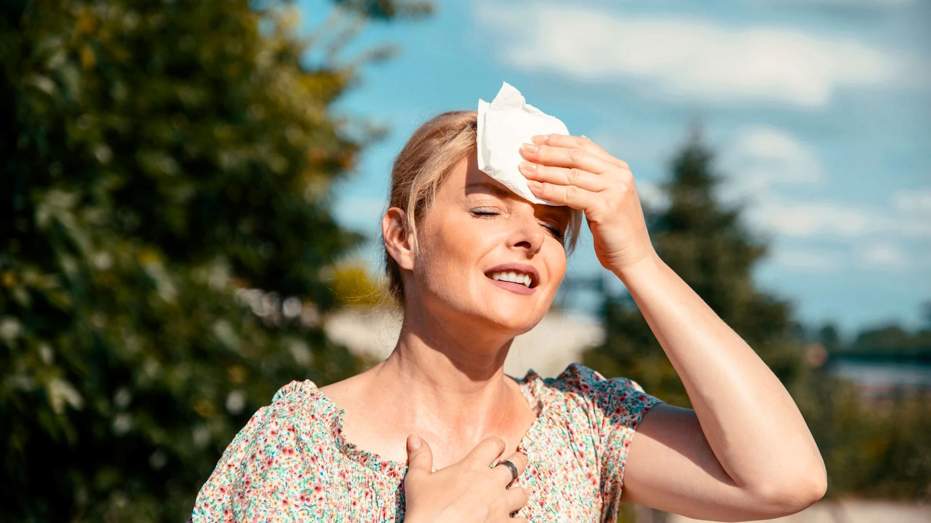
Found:
[[[524,100],[520,91],[504,82],[491,103],[479,99],[479,170],[535,204],[560,206],[533,194],[518,165],[528,161],[520,145],[533,143],[536,134],[569,134],[562,121]]]

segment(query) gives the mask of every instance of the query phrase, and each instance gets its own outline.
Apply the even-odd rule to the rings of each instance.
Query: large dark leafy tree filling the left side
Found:
[[[0,5],[0,519],[185,520],[278,387],[358,371],[319,325],[362,239],[328,195],[384,129],[331,114],[358,63],[309,65],[297,20],[272,1]]]

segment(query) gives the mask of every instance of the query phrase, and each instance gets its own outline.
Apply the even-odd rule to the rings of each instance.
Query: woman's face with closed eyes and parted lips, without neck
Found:
[[[405,282],[415,290],[406,296],[435,317],[471,316],[510,335],[533,329],[565,275],[560,236],[570,212],[510,192],[479,170],[476,154],[467,154],[418,222],[420,256]],[[506,272],[532,275],[531,287],[492,279],[494,267],[512,263],[527,267]]]

